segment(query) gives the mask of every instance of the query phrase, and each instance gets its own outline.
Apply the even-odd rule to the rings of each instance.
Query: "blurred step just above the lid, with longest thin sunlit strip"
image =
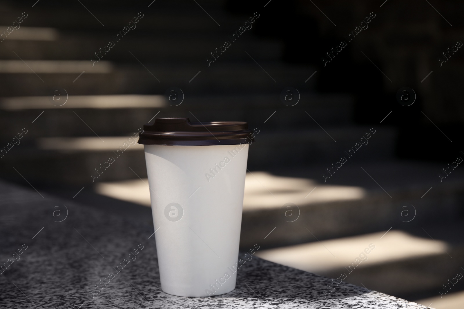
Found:
[[[179,97],[179,100],[182,99]],[[58,134],[67,137],[93,135],[83,121],[98,135],[124,135],[136,131],[155,115],[189,117],[193,121],[243,120],[252,128],[264,130],[270,127],[274,130],[320,128],[317,123],[348,126],[352,115],[352,99],[348,95],[310,92],[302,92],[300,102],[293,107],[285,106],[279,93],[187,96],[180,105],[172,106],[177,104],[165,95],[67,96],[63,90],[55,93],[55,98],[52,95],[4,97],[0,98],[0,121],[9,125],[0,132],[0,140],[10,139],[32,121],[34,129],[25,139],[56,137]]]

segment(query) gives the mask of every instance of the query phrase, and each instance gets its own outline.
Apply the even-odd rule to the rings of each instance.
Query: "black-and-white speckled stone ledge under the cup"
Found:
[[[230,293],[171,296],[161,291],[152,226],[42,195],[0,183],[0,265],[27,246],[0,274],[0,308],[424,308],[351,284],[327,294],[331,279],[257,257],[238,270]],[[93,297],[139,244],[136,259]]]

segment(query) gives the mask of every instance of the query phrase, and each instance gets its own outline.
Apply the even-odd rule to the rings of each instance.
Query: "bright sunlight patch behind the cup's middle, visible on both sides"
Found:
[[[97,183],[96,190],[102,195],[149,207],[150,192],[145,183],[148,183],[147,179]],[[139,186],[139,196],[135,198],[131,190],[122,189],[124,186],[130,188]],[[317,188],[308,195],[316,186]],[[144,198],[142,198],[142,192],[144,192]],[[245,177],[243,209],[247,211],[280,208],[287,202],[293,202],[301,207],[316,202],[362,199],[365,194],[365,190],[360,187],[323,185],[310,179],[278,177],[265,172],[252,172],[252,174],[246,173]]]

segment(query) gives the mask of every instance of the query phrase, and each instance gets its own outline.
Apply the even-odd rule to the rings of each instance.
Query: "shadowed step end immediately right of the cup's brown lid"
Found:
[[[303,116],[308,116],[303,114]],[[313,121],[310,119],[309,121]],[[265,131],[256,137],[256,147],[250,151],[248,162],[255,169],[267,169],[269,166],[291,165],[292,162],[302,164],[318,164],[333,158],[330,164],[336,164],[341,157],[351,159],[347,152],[353,154],[352,147],[369,132],[368,127],[327,127],[318,129]],[[260,133],[261,134],[261,133]],[[375,136],[366,140],[364,149],[353,155],[352,161],[372,160],[373,158],[385,160],[394,157],[396,142],[396,129],[382,127],[376,130]],[[360,145],[359,143],[357,145]],[[360,145],[360,147],[363,147]],[[356,149],[356,148],[354,148]],[[272,154],[272,155],[270,155]],[[322,179],[326,168],[319,170],[317,178]],[[329,175],[329,174],[328,174]],[[323,179],[322,179],[323,180]]]

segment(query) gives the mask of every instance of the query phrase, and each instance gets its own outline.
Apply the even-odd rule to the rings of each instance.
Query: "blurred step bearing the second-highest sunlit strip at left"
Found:
[[[109,95],[164,93],[175,86],[187,95],[216,95],[238,91],[280,94],[289,84],[301,90],[314,87],[315,79],[305,83],[314,73],[307,66],[264,62],[257,65],[251,59],[248,63],[213,63],[210,68],[206,60],[200,63],[116,66],[102,60],[92,67],[90,61],[2,60],[0,96],[52,95],[54,88],[64,88],[73,95]]]

